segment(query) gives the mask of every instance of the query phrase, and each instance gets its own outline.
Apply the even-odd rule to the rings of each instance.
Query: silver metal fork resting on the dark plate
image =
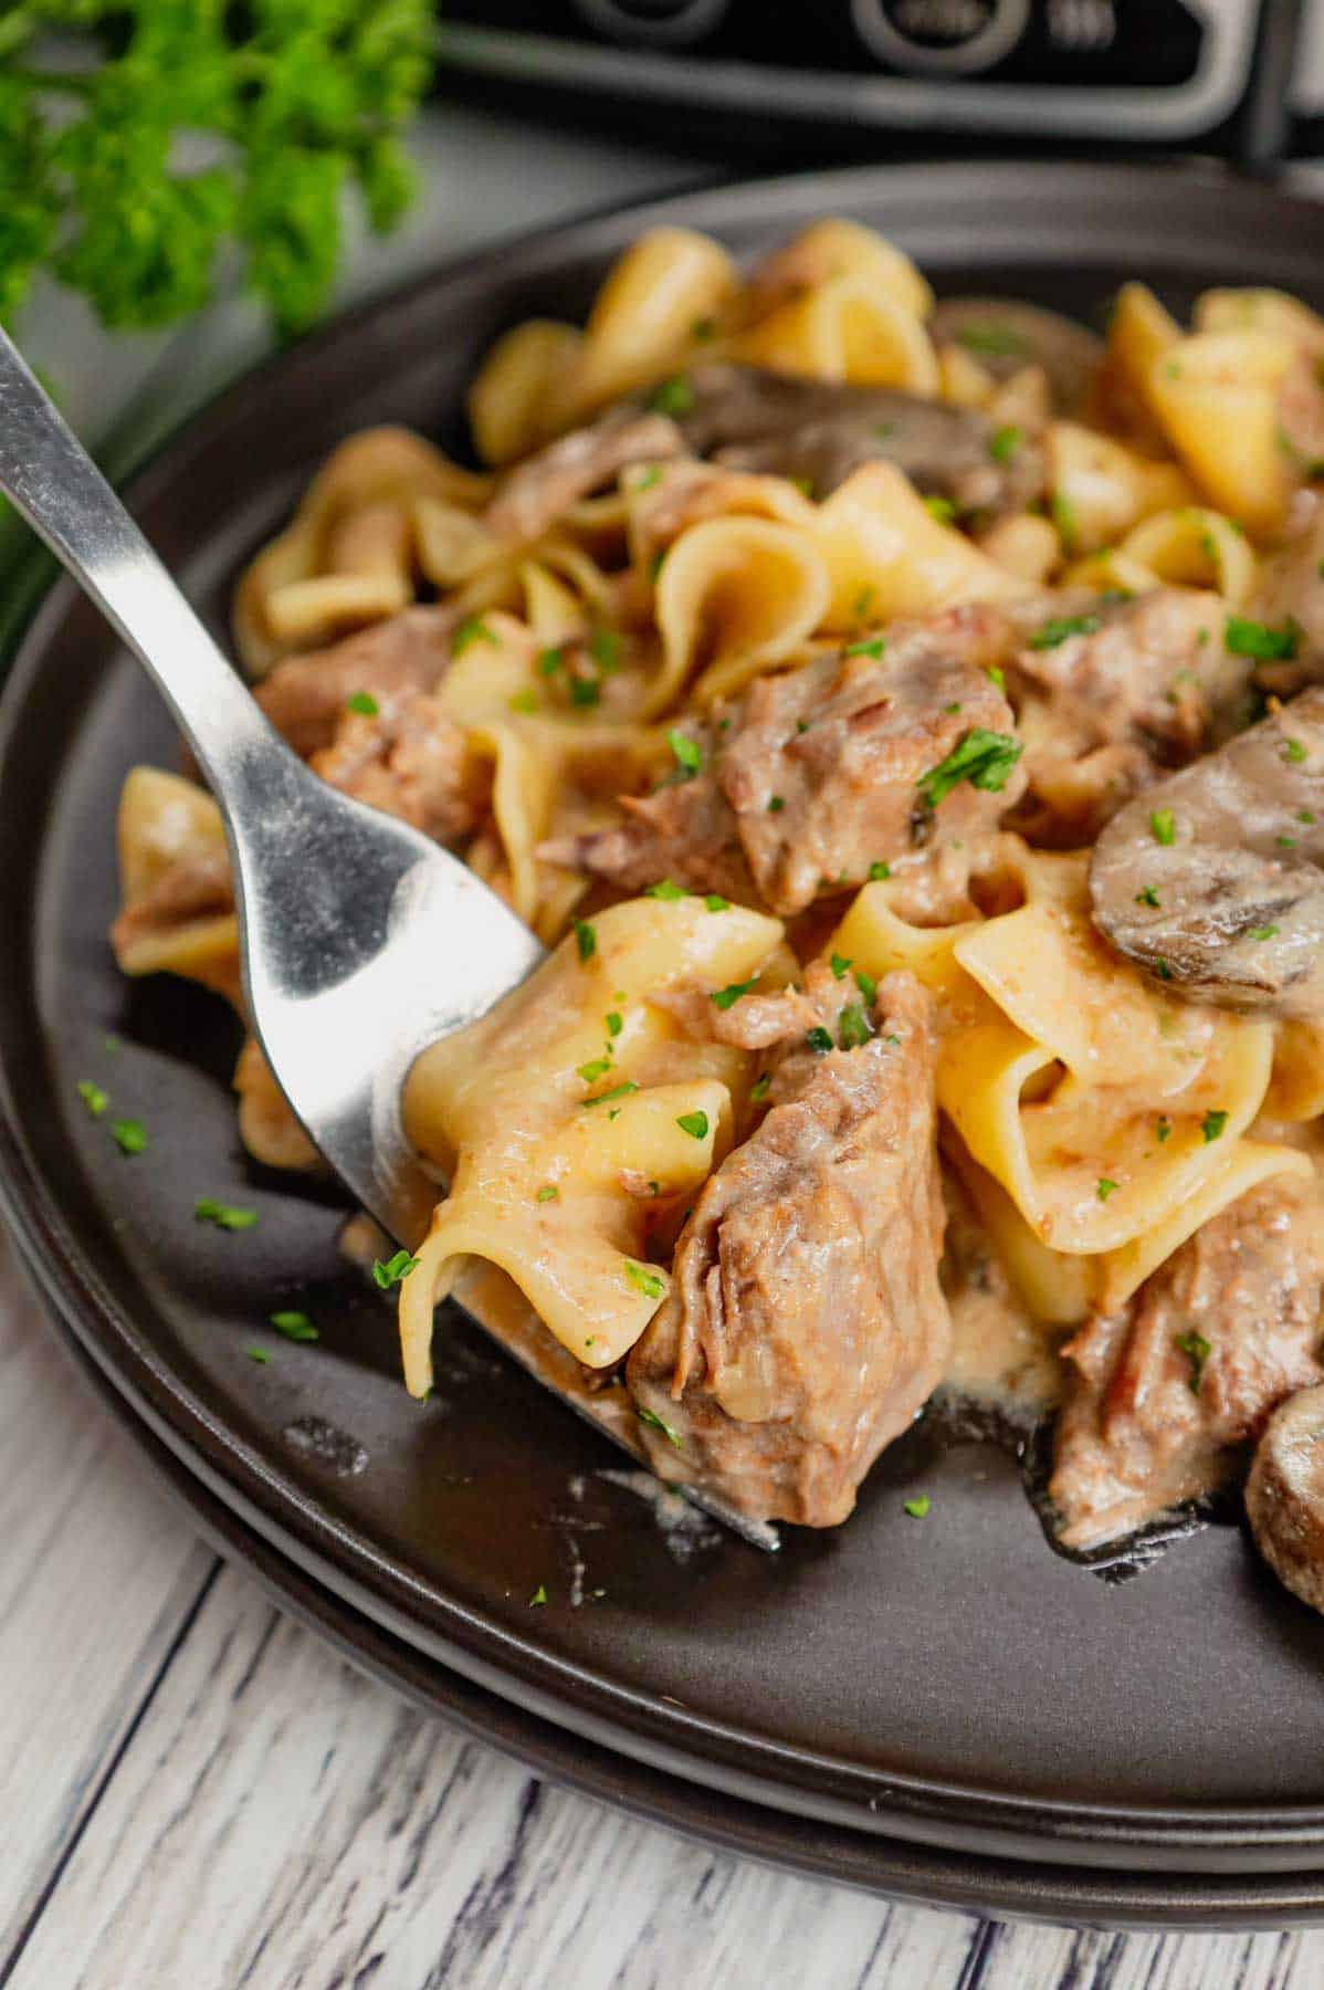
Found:
[[[457,858],[338,794],[290,752],[4,332],[0,490],[175,714],[225,818],[252,1029],[314,1146],[412,1250],[437,1188],[404,1132],[410,1067],[523,981],[543,947]],[[537,1381],[648,1463],[620,1419],[618,1393],[612,1405],[610,1391],[579,1389],[575,1363],[557,1365],[551,1335],[523,1339],[473,1317]],[[688,1496],[744,1540],[777,1546],[765,1522]]]

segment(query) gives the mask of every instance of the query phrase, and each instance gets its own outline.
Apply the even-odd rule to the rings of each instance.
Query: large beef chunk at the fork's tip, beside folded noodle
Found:
[[[873,1021],[708,1180],[626,1369],[654,1469],[763,1520],[845,1520],[950,1345],[932,1005],[893,975]]]

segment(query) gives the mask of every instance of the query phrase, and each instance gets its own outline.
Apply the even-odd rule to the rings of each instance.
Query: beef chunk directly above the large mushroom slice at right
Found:
[[[1074,850],[1163,768],[1185,766],[1244,708],[1217,595],[1159,587],[1123,601],[1050,595],[1014,611],[1008,691],[1026,740],[1030,842]]]

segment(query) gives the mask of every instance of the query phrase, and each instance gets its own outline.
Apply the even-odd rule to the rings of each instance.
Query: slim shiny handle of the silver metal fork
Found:
[[[0,490],[155,679],[217,796],[284,746],[0,330]]]

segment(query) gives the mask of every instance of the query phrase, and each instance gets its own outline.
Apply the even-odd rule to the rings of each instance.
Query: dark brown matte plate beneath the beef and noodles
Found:
[[[503,249],[332,326],[193,424],[133,505],[221,627],[239,563],[340,436],[404,420],[455,442],[489,338],[527,312],[579,316],[642,227],[682,221],[745,251],[823,211],[887,229],[944,291],[1083,318],[1129,275],[1177,308],[1209,283],[1324,300],[1324,211],[1221,173],[980,163],[724,189]],[[0,1075],[26,1162],[6,1200],[87,1351],[247,1528],[537,1719],[801,1821],[1119,1871],[1324,1863],[1324,1622],[1235,1526],[1105,1586],[1046,1548],[1012,1459],[918,1437],[849,1526],[789,1534],[777,1560],[714,1538],[680,1562],[634,1492],[598,1477],[616,1459],[461,1319],[439,1329],[439,1399],[414,1405],[390,1311],[338,1266],[334,1194],[239,1152],[227,1013],[113,969],[115,794],[135,760],[173,754],[147,683],[54,589],[0,720]],[[83,1077],[147,1122],[147,1154],[121,1158],[83,1114]],[[199,1226],[201,1194],[258,1208],[258,1228]],[[318,1345],[262,1329],[294,1295]],[[348,1433],[366,1469],[294,1449],[284,1433],[308,1417]],[[903,1498],[920,1487],[932,1510],[914,1522]],[[579,1610],[577,1552],[604,1592]],[[531,1608],[541,1584],[549,1604]]]

